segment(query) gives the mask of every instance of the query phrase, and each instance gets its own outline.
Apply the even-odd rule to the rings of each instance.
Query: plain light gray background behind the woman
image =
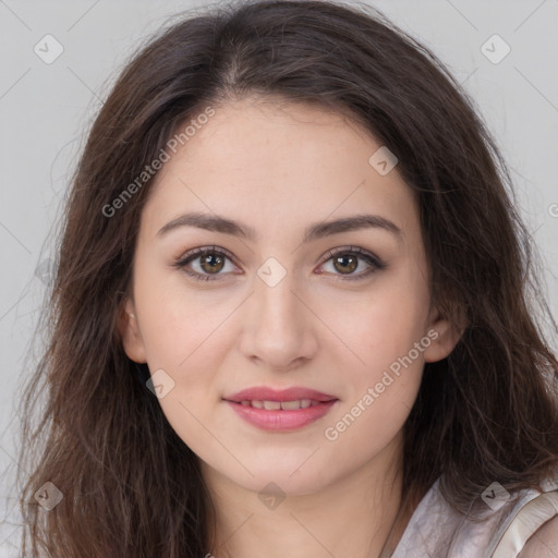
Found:
[[[558,0],[368,3],[432,48],[476,101],[510,166],[518,204],[543,253],[556,318]],[[4,498],[13,484],[10,471],[16,456],[16,389],[29,372],[23,359],[45,293],[36,269],[56,250],[46,239],[76,154],[112,81],[141,41],[170,15],[203,5],[0,0],[0,472],[4,471],[0,496]],[[64,49],[50,64],[34,51],[47,34]],[[494,34],[511,48],[499,63],[481,50]],[[501,46],[495,44],[494,50],[499,54]],[[3,513],[10,521],[12,504],[4,499]],[[0,556],[9,556],[12,536],[4,523],[0,546],[8,539]]]

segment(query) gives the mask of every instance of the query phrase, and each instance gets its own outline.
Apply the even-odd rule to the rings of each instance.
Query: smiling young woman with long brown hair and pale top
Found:
[[[372,9],[155,37],[68,199],[28,556],[558,555],[558,362],[510,182]]]

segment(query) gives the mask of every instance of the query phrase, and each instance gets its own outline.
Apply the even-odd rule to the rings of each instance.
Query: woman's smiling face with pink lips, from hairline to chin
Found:
[[[204,471],[247,489],[307,494],[393,458],[424,362],[456,342],[396,161],[307,105],[238,101],[197,122],[142,214],[128,355]],[[323,397],[236,396],[250,388]]]

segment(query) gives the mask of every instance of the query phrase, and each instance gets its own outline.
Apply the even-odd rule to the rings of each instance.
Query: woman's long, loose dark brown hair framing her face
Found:
[[[558,465],[558,362],[539,313],[556,324],[537,303],[532,241],[473,101],[435,54],[368,5],[228,3],[182,17],[132,58],[75,170],[40,326],[48,345],[22,401],[21,507],[34,557],[209,550],[197,457],[117,329],[154,179],[136,182],[113,215],[102,209],[180,126],[247,95],[347,114],[388,146],[416,193],[433,303],[464,332],[447,359],[425,365],[404,426],[405,498],[442,475],[446,497],[465,510],[494,481],[535,486]],[[46,482],[63,494],[48,512],[34,498]]]

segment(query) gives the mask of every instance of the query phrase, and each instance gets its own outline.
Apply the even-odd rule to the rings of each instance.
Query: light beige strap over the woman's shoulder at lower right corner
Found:
[[[529,537],[558,515],[558,490],[543,493],[523,506],[498,542],[492,558],[515,558]]]

